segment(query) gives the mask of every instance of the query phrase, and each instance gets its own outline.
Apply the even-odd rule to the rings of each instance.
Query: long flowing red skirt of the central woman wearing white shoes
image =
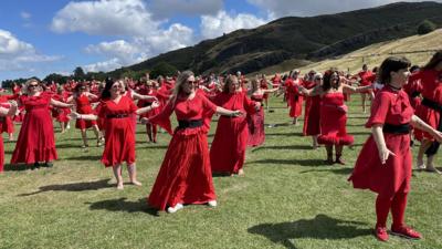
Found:
[[[203,127],[175,132],[148,197],[150,207],[165,210],[180,204],[217,199]]]

